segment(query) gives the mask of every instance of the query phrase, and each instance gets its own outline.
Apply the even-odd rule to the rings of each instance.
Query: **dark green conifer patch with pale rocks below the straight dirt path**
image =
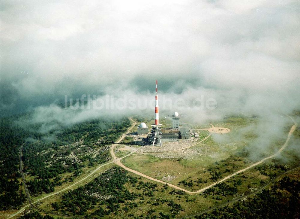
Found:
[[[65,193],[61,196],[62,201],[53,203],[52,207],[67,214],[102,217],[118,210],[119,203],[129,202],[137,197],[137,194],[130,193],[124,187],[127,182],[135,185],[137,178],[127,176],[126,170],[115,167],[85,186]],[[100,206],[96,207],[98,205]],[[89,215],[87,211],[94,208],[97,210]]]

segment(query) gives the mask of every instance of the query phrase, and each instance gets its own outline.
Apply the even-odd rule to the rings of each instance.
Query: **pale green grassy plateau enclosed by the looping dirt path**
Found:
[[[252,163],[247,160],[247,154],[243,154],[243,149],[252,143],[256,135],[251,129],[242,134],[238,129],[249,125],[255,127],[256,122],[257,119],[232,117],[213,123],[215,126],[228,127],[232,132],[224,135],[213,134],[202,143],[191,147],[194,151],[202,153],[201,156],[193,159],[166,159],[152,155],[137,155],[126,157],[122,163],[163,181],[167,176],[175,176],[168,182],[187,190],[198,190]],[[207,134],[206,130],[200,130],[200,139]],[[283,141],[274,142],[273,148],[271,147],[266,155],[274,153],[283,143]]]

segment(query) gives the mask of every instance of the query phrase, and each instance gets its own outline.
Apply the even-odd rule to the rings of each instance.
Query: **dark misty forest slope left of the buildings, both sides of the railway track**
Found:
[[[71,150],[58,154],[62,157],[59,162],[46,165],[47,161],[55,160],[57,157],[51,157],[51,153],[45,153],[42,156],[42,151],[49,148],[58,151],[61,145],[72,144],[79,139],[82,139],[87,146],[94,147],[94,144],[97,144],[101,147],[116,141],[130,126],[128,118],[95,119],[76,123],[73,126],[65,126],[59,121],[49,123],[32,121],[34,121],[33,113],[0,118],[0,210],[17,208],[26,200],[16,180],[20,178],[18,164],[19,148],[22,144],[24,171],[36,176],[28,182],[29,190],[34,194],[49,193],[53,191],[54,186],[61,185],[62,182],[57,180],[59,174],[66,171],[75,172],[84,165],[64,159],[72,152]],[[86,150],[85,148],[81,150]],[[95,163],[106,162],[108,156],[109,152],[103,151],[96,157],[87,155],[82,158],[82,161],[88,160],[89,165],[93,166]],[[61,164],[61,161],[65,162],[65,166]],[[55,180],[52,180],[53,178]]]

